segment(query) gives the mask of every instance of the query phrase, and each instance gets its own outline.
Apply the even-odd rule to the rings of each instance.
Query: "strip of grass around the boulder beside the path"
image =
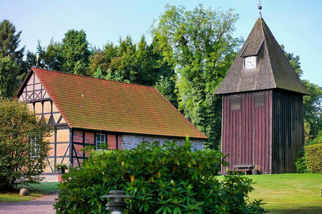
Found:
[[[42,182],[40,184],[31,184],[30,187],[18,185],[16,189],[10,193],[0,193],[0,202],[16,202],[16,201],[31,201],[35,197],[41,197],[57,191],[58,182]],[[19,191],[21,188],[30,190],[30,196],[20,196]]]

